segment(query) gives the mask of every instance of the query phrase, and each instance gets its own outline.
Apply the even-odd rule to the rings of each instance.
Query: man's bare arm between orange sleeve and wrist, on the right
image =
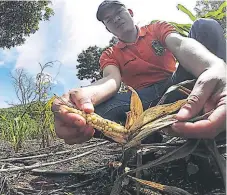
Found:
[[[208,68],[225,66],[222,59],[194,39],[174,36],[167,40],[167,44],[180,65],[195,77]]]

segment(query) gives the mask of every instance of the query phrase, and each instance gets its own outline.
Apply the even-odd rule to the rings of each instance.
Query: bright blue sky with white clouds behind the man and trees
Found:
[[[96,20],[96,10],[102,0],[53,0],[55,15],[50,21],[42,22],[39,30],[28,37],[22,46],[0,49],[0,108],[7,102],[17,102],[10,79],[16,68],[24,68],[29,74],[39,71],[39,63],[60,61],[60,72],[54,83],[54,92],[62,95],[68,90],[89,84],[76,77],[77,56],[89,46],[108,45],[112,35]],[[192,12],[195,0],[122,0],[134,11],[135,23],[139,26],[154,19],[191,23],[178,11],[176,5],[183,4]],[[55,76],[59,64],[46,72]]]

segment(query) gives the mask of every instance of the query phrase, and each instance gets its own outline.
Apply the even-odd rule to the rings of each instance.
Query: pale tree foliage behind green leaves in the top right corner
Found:
[[[203,18],[206,14],[208,14],[211,11],[218,10],[221,6],[223,9],[221,10],[221,14],[226,14],[226,6],[224,6],[224,3],[226,4],[226,1],[211,1],[211,0],[203,0],[203,1],[197,1],[196,6],[194,10],[196,11],[196,16],[199,18]],[[218,23],[222,26],[224,29],[224,33],[226,34],[226,17],[221,17],[220,19],[215,14],[210,16],[210,18],[213,18],[218,21]],[[216,16],[216,17],[214,17]]]

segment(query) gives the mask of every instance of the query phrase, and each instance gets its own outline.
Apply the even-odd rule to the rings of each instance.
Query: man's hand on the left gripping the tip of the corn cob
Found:
[[[92,98],[86,94],[83,88],[71,90],[64,94],[62,99],[74,104],[79,110],[86,113],[94,112]],[[65,143],[79,144],[93,136],[94,129],[86,124],[85,119],[78,114],[69,113],[59,100],[55,99],[53,102],[52,111],[54,112],[56,134],[59,138],[64,139]]]

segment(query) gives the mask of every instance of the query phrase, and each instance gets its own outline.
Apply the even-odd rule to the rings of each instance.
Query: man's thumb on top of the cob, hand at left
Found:
[[[71,91],[70,100],[86,113],[94,112],[94,106],[90,97],[83,97],[78,91]]]

